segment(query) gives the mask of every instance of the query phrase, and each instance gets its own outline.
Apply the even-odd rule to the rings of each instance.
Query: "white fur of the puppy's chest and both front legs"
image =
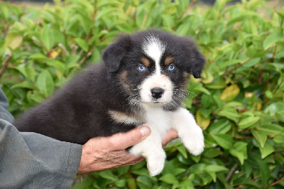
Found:
[[[162,139],[171,128],[178,131],[182,143],[192,154],[202,153],[204,148],[202,129],[187,109],[180,108],[175,112],[167,112],[162,107],[148,105],[143,105],[143,107],[146,111],[145,125],[151,128],[151,134],[141,143],[133,146],[130,153],[146,158],[151,176],[163,171],[165,151],[163,151]]]

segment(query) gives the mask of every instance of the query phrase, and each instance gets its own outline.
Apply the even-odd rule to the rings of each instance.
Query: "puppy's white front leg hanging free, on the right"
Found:
[[[190,153],[195,156],[202,153],[204,149],[202,129],[187,109],[180,108],[174,112],[173,129],[178,131],[178,136]]]

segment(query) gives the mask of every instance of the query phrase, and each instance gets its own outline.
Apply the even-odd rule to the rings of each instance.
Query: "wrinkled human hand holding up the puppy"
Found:
[[[118,133],[109,137],[89,139],[82,146],[79,174],[102,171],[109,168],[130,166],[143,160],[142,156],[133,156],[126,148],[138,144],[149,136],[148,126],[141,126],[126,133]],[[175,130],[170,130],[163,139],[163,146],[178,138]]]

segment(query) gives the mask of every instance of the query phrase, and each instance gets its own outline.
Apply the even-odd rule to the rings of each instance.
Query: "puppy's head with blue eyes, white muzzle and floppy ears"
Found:
[[[199,78],[204,56],[193,41],[149,30],[120,36],[102,55],[129,99],[143,104],[180,104],[192,74]]]

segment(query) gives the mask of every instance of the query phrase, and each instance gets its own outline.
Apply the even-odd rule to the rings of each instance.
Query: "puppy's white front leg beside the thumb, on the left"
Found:
[[[149,126],[149,124],[146,124]],[[141,143],[130,149],[134,156],[146,158],[148,171],[151,176],[158,175],[163,171],[165,165],[165,151],[162,147],[162,139],[157,129],[151,127],[151,134]]]

